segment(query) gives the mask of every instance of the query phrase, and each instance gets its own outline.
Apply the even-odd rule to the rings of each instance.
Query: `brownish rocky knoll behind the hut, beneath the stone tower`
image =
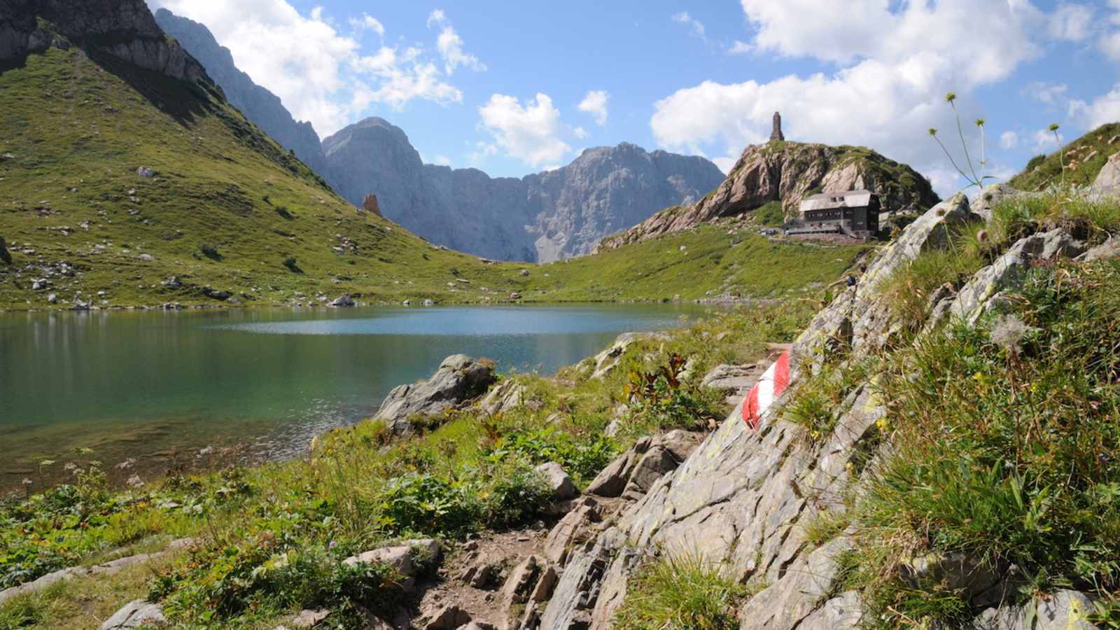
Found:
[[[781,201],[787,215],[810,194],[868,189],[884,212],[925,210],[937,203],[930,183],[911,167],[859,147],[767,142],[747,147],[727,179],[698,203],[671,207],[622,234],[604,239],[598,250],[615,249],[687,230],[721,216],[749,212]]]

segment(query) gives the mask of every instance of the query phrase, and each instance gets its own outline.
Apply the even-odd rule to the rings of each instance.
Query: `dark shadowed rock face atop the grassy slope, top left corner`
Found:
[[[18,62],[29,53],[71,45],[108,53],[183,81],[209,82],[202,64],[167,39],[143,0],[0,3],[0,62]]]

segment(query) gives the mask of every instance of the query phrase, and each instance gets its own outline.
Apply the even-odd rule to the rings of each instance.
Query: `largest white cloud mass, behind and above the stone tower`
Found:
[[[741,6],[755,31],[747,44],[756,54],[809,57],[836,70],[679,90],[654,104],[650,124],[662,146],[693,152],[715,147],[726,151],[726,164],[744,145],[765,141],[778,110],[791,139],[867,145],[933,173],[944,157],[925,130],[955,126],[943,95],[968,95],[1008,77],[1040,55],[1035,35],[1047,24],[1027,0],[741,0]],[[968,109],[965,99],[958,105]],[[951,174],[941,177],[942,184],[950,180]]]

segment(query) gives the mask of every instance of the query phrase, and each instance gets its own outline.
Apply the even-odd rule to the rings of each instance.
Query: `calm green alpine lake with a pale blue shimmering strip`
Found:
[[[696,304],[0,314],[0,493],[300,456],[450,354],[552,374]],[[128,471],[113,469],[134,460]],[[27,488],[25,488],[27,487]]]

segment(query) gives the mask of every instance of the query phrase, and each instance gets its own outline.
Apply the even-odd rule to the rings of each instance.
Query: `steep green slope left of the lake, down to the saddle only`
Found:
[[[319,290],[438,298],[448,269],[484,267],[358,214],[202,85],[50,49],[0,74],[0,110],[9,306],[101,290],[114,305],[214,302],[205,287],[260,302]],[[171,276],[179,288],[160,285]],[[47,290],[30,290],[39,278]]]

